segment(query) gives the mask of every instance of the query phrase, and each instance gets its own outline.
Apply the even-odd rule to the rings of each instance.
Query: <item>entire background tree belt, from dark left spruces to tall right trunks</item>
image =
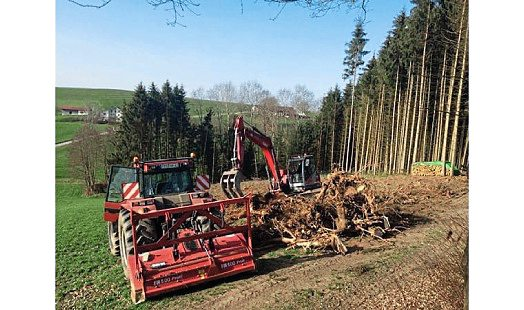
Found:
[[[314,107],[311,92],[300,86],[272,95],[256,82],[238,91],[223,83],[192,95],[220,100],[236,94],[237,102],[258,106],[244,118],[272,138],[281,165],[290,155],[308,153],[322,172],[338,165],[347,171],[409,173],[417,161],[449,161],[467,169],[468,2],[412,3],[410,12],[396,16],[367,63],[365,24],[356,23],[341,67],[347,84],[334,85],[309,118],[274,115],[278,105],[303,112]],[[190,117],[183,86],[139,84],[124,103],[123,121],[104,158],[108,164],[129,164],[134,155],[155,159],[195,152],[197,172],[217,181],[231,167],[234,117],[227,105]],[[246,157],[245,174],[266,177],[260,149],[248,142]]]

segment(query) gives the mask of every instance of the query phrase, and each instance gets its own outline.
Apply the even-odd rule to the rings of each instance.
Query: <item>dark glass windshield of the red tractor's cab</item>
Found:
[[[145,173],[142,191],[145,197],[176,194],[193,190],[191,170],[165,169],[161,172]]]

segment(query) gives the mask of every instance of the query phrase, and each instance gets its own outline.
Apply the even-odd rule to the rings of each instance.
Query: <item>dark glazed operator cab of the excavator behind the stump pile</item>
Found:
[[[293,192],[319,188],[320,176],[313,155],[292,156],[287,162],[287,180]]]

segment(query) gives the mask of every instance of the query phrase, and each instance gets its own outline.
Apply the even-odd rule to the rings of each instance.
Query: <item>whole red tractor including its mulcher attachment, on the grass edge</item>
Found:
[[[217,201],[197,179],[195,187],[190,157],[111,167],[104,220],[133,302],[255,270],[251,197]],[[245,224],[226,223],[230,205],[245,207]]]

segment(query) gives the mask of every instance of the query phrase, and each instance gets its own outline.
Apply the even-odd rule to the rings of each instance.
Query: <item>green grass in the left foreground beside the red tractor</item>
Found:
[[[85,197],[71,176],[69,147],[55,150],[57,308],[122,308],[131,303],[118,260],[107,248],[103,196]]]

